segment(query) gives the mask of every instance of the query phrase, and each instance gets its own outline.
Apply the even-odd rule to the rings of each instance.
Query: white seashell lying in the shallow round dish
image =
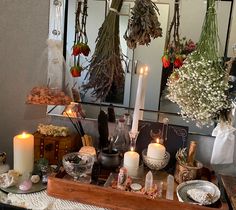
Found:
[[[189,198],[202,205],[209,205],[213,200],[213,195],[211,193],[200,189],[190,189],[187,191],[187,195]]]

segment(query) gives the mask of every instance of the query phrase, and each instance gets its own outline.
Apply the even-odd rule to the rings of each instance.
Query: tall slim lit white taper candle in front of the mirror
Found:
[[[140,108],[141,108],[141,95],[142,95],[142,89],[143,89],[143,68],[140,69],[139,72],[139,78],[138,78],[138,86],[137,86],[137,92],[136,92],[136,98],[135,98],[135,106],[134,106],[134,113],[133,113],[133,122],[132,122],[132,133],[138,132],[138,121],[140,118]]]

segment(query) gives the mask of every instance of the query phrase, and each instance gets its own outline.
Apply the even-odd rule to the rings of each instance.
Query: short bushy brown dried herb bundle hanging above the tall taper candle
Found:
[[[124,39],[131,49],[139,45],[148,45],[152,38],[162,36],[161,24],[158,21],[159,9],[151,0],[136,0],[132,16],[128,23]]]

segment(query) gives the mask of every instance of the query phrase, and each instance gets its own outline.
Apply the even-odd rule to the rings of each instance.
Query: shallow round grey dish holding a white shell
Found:
[[[220,198],[220,190],[215,184],[204,180],[191,180],[183,182],[177,186],[176,193],[179,201],[203,205],[201,203],[193,201],[187,196],[187,191],[190,189],[199,189],[204,192],[210,193],[213,196],[210,204],[215,203]]]

